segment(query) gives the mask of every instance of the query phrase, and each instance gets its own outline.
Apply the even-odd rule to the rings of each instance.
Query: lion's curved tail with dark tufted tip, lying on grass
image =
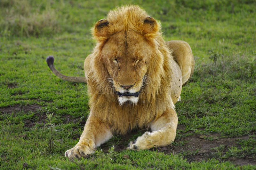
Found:
[[[49,68],[52,70],[52,73],[54,73],[57,77],[59,77],[60,79],[62,80],[65,80],[65,81],[73,81],[73,82],[84,82],[86,83],[86,79],[85,77],[77,77],[77,76],[66,76],[66,75],[63,75],[61,74],[60,72],[58,72],[58,70],[56,70],[54,68],[54,57],[53,56],[49,56],[46,58],[46,62],[49,66]]]

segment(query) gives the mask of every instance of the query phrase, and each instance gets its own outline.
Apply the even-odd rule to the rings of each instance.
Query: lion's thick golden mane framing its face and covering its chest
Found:
[[[90,96],[89,105],[91,116],[108,123],[113,132],[124,134],[133,128],[148,126],[150,121],[160,117],[167,108],[174,108],[170,95],[172,56],[162,38],[160,23],[151,20],[151,17],[140,7],[117,8],[108,13],[106,20],[108,23],[104,21],[96,23],[92,29],[97,44],[91,54],[91,69],[86,75]],[[145,22],[149,24],[144,24]],[[102,27],[100,24],[108,24],[108,26]],[[152,53],[150,66],[146,73],[147,83],[142,89],[143,93],[140,94],[139,102],[136,105],[127,103],[120,106],[113,86],[107,80],[110,76],[102,62],[101,50],[111,35],[124,30],[127,34],[132,33],[131,30],[136,30],[137,33],[143,35],[154,48],[154,53]]]

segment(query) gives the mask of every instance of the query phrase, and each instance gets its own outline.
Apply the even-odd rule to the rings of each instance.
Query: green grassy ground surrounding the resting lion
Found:
[[[83,76],[95,44],[90,28],[124,4],[138,4],[161,21],[166,41],[192,48],[195,73],[176,104],[176,141],[170,153],[124,150],[142,134],[135,131],[70,162],[64,153],[78,142],[89,114],[86,85],[60,80],[45,59],[53,55],[61,73]],[[0,1],[1,168],[255,169],[255,6],[250,0]],[[50,124],[46,113],[53,113]],[[192,139],[214,146],[203,152]]]

